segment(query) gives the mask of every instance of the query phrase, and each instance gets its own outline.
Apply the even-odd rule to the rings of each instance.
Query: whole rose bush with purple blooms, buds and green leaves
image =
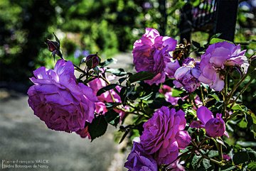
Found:
[[[213,38],[189,50],[146,28],[131,73],[106,67],[112,60],[100,63],[97,53],[84,57],[83,68],[66,62],[55,39],[48,43],[58,48],[49,50],[62,60],[34,71],[28,89],[28,104],[48,128],[94,140],[119,126],[115,139],[132,145],[128,170],[255,168],[256,116],[241,96],[255,83],[256,59],[240,45]]]

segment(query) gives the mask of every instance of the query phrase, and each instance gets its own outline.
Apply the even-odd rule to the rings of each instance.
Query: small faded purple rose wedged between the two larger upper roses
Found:
[[[196,78],[200,74],[199,63],[188,57],[183,61],[183,66],[176,70],[174,85],[177,88],[184,87],[187,92],[194,92],[200,86],[200,82]]]

